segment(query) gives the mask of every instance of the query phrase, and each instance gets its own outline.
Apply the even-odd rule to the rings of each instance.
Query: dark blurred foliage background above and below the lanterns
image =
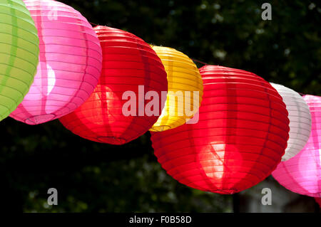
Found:
[[[61,0],[62,1],[62,0]],[[99,25],[121,28],[205,63],[248,70],[299,93],[320,95],[320,1],[62,1]],[[198,63],[198,66],[202,64]],[[147,132],[123,146],[98,144],[58,120],[29,126],[0,122],[1,210],[24,212],[320,212],[313,198],[272,176],[234,196],[179,184],[161,169]],[[58,189],[58,206],[47,204]],[[272,189],[263,206],[261,190]]]

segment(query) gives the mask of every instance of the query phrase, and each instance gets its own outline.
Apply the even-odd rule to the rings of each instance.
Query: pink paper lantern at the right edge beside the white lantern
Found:
[[[305,95],[303,98],[312,117],[310,138],[299,154],[280,163],[272,176],[297,194],[321,197],[321,97]]]

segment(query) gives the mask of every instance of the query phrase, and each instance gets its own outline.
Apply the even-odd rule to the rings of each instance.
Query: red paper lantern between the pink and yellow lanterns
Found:
[[[165,103],[161,97],[162,91],[167,92],[166,72],[161,59],[141,38],[106,26],[94,30],[103,49],[100,81],[91,97],[60,121],[83,138],[124,144],[157,121]]]

